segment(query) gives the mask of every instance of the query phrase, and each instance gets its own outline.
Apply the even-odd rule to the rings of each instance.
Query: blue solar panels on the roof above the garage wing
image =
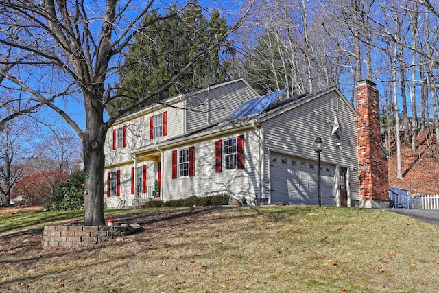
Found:
[[[278,97],[285,93],[286,89],[281,91],[276,91],[274,93],[269,93],[268,95],[263,95],[262,97],[257,97],[255,99],[250,99],[239,106],[232,114],[228,115],[225,121],[235,120],[244,117],[250,117],[254,115],[259,115],[263,113],[268,107],[270,107]]]

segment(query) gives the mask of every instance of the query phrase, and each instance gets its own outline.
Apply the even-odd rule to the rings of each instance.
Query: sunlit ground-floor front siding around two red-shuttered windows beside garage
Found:
[[[232,134],[218,139],[229,139]],[[209,139],[192,144],[195,146],[195,176],[172,179],[172,150],[165,151],[163,165],[163,200],[175,200],[189,196],[209,196],[213,194],[229,194],[235,198],[246,197],[248,203],[254,202],[259,188],[259,145],[254,131],[244,133],[245,169],[215,172],[215,141]],[[189,148],[185,145],[182,148]],[[180,150],[176,148],[174,150]]]

